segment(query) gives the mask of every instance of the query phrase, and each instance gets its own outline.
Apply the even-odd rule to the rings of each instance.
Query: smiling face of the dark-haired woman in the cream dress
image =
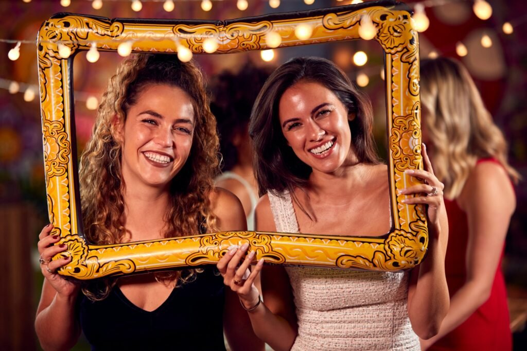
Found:
[[[300,81],[289,87],[279,119],[288,145],[313,171],[335,172],[350,156],[347,108],[324,85]]]

